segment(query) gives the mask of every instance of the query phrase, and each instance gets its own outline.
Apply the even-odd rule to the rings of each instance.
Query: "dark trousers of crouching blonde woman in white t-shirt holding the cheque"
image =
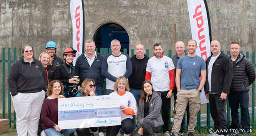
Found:
[[[122,127],[125,134],[130,134],[133,131],[133,119],[127,118],[121,122],[119,126],[107,127],[107,136],[116,136],[119,129]]]

